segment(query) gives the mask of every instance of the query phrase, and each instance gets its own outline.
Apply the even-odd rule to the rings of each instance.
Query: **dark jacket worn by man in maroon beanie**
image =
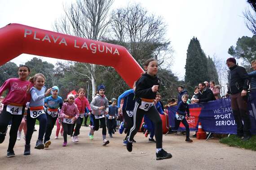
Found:
[[[249,76],[245,68],[234,65],[229,71],[228,93],[236,94],[249,88]]]

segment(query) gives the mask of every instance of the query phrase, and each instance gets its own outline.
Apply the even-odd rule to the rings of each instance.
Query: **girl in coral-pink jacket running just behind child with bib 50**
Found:
[[[78,135],[80,133],[80,128],[81,128],[81,125],[83,123],[83,119],[84,119],[84,113],[85,113],[85,110],[86,110],[86,107],[89,109],[89,112],[91,112],[91,107],[90,107],[90,104],[87,100],[87,98],[85,97],[85,89],[83,88],[80,88],[78,90],[78,97],[75,98],[75,104],[77,105],[77,108],[79,110],[79,118],[76,119],[75,123],[75,132],[74,132],[74,135],[72,137],[72,142],[78,142]]]

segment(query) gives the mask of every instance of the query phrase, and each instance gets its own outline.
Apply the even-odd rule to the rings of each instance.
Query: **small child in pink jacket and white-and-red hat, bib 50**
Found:
[[[73,131],[73,124],[75,120],[79,118],[79,110],[76,106],[75,102],[75,95],[69,94],[67,96],[68,102],[64,103],[62,109],[60,111],[59,119],[62,119],[62,127],[63,131],[63,138],[64,142],[62,146],[67,145],[67,135],[70,135]]]

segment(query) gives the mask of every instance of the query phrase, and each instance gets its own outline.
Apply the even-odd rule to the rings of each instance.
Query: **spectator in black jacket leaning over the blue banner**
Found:
[[[205,83],[199,83],[198,86],[199,86],[199,93],[198,93],[198,99],[195,100],[196,103],[216,100],[216,98],[212,93],[212,90],[207,89]]]

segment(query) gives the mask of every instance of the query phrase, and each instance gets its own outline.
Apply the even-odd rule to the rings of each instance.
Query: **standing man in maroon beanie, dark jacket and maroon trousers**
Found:
[[[238,66],[234,58],[226,61],[229,72],[228,94],[231,94],[231,107],[237,126],[237,136],[243,140],[251,138],[251,121],[247,110],[247,89],[249,88],[249,76],[245,68]],[[242,122],[243,120],[243,122]]]

